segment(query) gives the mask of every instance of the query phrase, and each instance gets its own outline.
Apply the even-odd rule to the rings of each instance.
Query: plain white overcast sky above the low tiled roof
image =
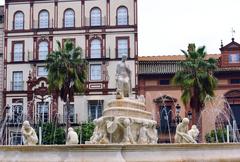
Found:
[[[0,0],[3,4],[4,0]],[[139,55],[180,54],[188,43],[219,53],[240,42],[240,0],[138,0]]]

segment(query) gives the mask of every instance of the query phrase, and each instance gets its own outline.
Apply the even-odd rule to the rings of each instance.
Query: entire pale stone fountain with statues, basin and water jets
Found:
[[[77,145],[76,133],[69,129],[67,145],[26,145],[0,146],[1,162],[230,162],[240,161],[240,145],[237,143],[196,144],[198,130],[196,126],[188,131],[188,119],[183,118],[178,124],[175,140],[178,144],[156,144],[156,122],[152,113],[146,111],[145,99],[131,96],[131,71],[125,64],[125,58],[117,68],[116,99],[109,101],[103,116],[94,120],[95,129],[90,141]],[[219,102],[220,100],[215,100]],[[236,128],[231,125],[230,111],[216,110],[219,104],[206,102],[206,109],[201,116],[213,113],[214,124],[219,114],[229,123],[235,141],[238,141]],[[210,102],[211,103],[211,102]],[[212,106],[211,106],[212,105]],[[222,102],[220,105],[225,105]],[[229,106],[229,105],[228,105]],[[168,112],[163,109],[165,113]],[[211,113],[209,113],[211,112]],[[218,113],[216,113],[218,112]],[[225,112],[225,113],[219,113]],[[228,118],[227,118],[228,117]],[[233,118],[233,117],[232,117]],[[213,117],[210,117],[213,119]],[[234,119],[234,118],[233,118]],[[169,120],[167,118],[167,120]],[[203,121],[207,122],[207,121]],[[223,121],[222,121],[223,122]],[[200,122],[199,122],[200,123]],[[29,124],[27,124],[29,128]],[[24,124],[24,125],[25,125]],[[197,127],[199,128],[199,125]],[[213,124],[204,123],[209,127]],[[202,130],[206,130],[205,127]],[[169,128],[169,126],[168,126]],[[206,127],[207,128],[207,127]],[[23,131],[24,134],[24,131]],[[71,136],[71,137],[70,137]],[[30,139],[35,134],[31,134]],[[170,134],[171,138],[171,134]]]

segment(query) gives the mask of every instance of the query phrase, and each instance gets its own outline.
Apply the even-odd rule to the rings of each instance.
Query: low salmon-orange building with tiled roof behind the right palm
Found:
[[[240,44],[232,39],[229,44],[221,45],[220,51],[220,54],[207,55],[207,58],[218,60],[218,68],[214,72],[218,79],[215,95],[225,96],[240,128]],[[179,116],[192,117],[192,121],[195,121],[192,108],[189,105],[185,107],[181,101],[181,88],[171,84],[175,73],[181,70],[178,63],[184,59],[184,55],[139,57],[139,93],[145,96],[146,107],[158,122],[160,142],[173,142]],[[179,106],[181,111],[177,112]],[[201,122],[190,121],[191,124],[201,127],[202,139],[215,128],[216,123],[210,120],[218,118],[216,114],[203,113]],[[231,117],[229,119],[232,120]]]

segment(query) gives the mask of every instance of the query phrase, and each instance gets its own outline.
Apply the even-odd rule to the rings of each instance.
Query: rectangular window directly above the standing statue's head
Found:
[[[122,58],[122,55],[129,55],[128,38],[117,38],[117,57]]]

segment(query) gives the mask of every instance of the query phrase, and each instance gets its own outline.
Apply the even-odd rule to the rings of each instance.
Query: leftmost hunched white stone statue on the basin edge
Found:
[[[24,145],[36,145],[38,137],[35,130],[30,126],[29,121],[24,121],[22,124],[22,136]]]

